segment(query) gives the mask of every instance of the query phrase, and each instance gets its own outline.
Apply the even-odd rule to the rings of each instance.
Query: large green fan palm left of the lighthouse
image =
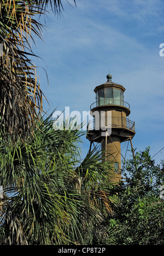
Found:
[[[28,143],[1,138],[1,245],[83,244],[111,211],[110,164],[95,149],[79,159],[82,131],[41,120]]]

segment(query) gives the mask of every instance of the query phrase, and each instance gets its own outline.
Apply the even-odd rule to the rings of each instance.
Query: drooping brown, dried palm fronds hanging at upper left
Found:
[[[75,1],[74,1],[75,2]],[[43,24],[37,16],[48,4],[60,14],[61,0],[2,0],[0,3],[0,125],[2,136],[27,139],[43,110],[37,69],[30,60],[34,37],[42,38]]]

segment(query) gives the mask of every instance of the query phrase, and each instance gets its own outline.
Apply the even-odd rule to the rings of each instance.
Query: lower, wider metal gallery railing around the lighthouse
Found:
[[[101,127],[119,127],[135,131],[135,122],[124,117],[112,117],[109,120],[102,118],[101,122],[99,120],[90,120],[87,125],[87,131],[101,130]]]

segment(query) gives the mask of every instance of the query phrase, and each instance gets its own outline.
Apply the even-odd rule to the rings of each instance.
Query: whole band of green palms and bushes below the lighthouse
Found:
[[[95,150],[79,161],[81,132],[45,123],[26,147],[1,148],[1,245],[163,245],[163,162],[147,148],[112,185]]]

